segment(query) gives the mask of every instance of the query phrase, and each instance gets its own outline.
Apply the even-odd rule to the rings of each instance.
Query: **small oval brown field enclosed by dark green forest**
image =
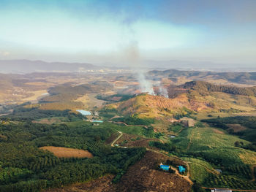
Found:
[[[93,158],[94,156],[88,150],[78,150],[67,147],[45,146],[39,149],[48,150],[59,158]]]

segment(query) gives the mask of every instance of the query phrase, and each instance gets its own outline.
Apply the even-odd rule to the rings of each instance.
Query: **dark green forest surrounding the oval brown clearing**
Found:
[[[118,182],[129,165],[146,153],[145,148],[105,145],[115,131],[93,128],[91,123],[49,126],[8,121],[0,124],[0,191],[40,191],[115,174]],[[57,158],[42,146],[89,150],[94,158]]]

